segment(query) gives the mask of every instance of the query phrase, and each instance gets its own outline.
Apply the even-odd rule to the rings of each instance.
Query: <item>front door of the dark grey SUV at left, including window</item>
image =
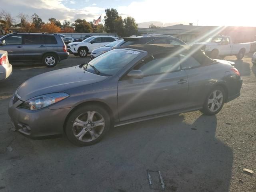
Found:
[[[8,52],[8,59],[10,61],[24,60],[22,35],[11,35],[1,40],[2,44],[0,44],[0,50]]]

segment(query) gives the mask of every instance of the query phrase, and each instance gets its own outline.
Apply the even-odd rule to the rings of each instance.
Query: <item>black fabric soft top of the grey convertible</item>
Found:
[[[188,45],[172,45],[172,44],[142,45],[140,44],[140,45],[123,46],[121,48],[130,48],[130,49],[146,51],[148,52],[148,55],[156,54],[158,52],[170,52],[170,53],[174,53],[175,55],[179,53],[186,53],[186,55],[190,55],[194,57],[201,64],[210,64],[212,62],[215,62],[214,60],[206,56],[200,48],[188,46]]]

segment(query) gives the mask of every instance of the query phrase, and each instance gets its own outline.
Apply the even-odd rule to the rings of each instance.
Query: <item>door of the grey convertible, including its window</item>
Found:
[[[188,79],[180,70],[177,56],[153,55],[150,61],[138,63],[133,70],[144,72],[144,78],[121,78],[118,82],[120,121],[142,118],[186,106]]]

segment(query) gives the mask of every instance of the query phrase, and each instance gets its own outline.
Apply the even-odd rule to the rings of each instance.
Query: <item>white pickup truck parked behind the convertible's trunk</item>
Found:
[[[224,58],[227,55],[236,55],[242,59],[244,54],[250,51],[249,43],[232,43],[230,36],[211,36],[204,42],[195,43],[193,46],[200,46],[210,58]]]

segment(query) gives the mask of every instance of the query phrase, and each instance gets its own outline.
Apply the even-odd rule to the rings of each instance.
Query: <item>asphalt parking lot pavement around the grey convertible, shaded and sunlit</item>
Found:
[[[216,116],[189,112],[112,128],[99,143],[77,147],[65,136],[26,138],[12,131],[8,102],[28,78],[89,60],[70,56],[54,68],[13,64],[0,82],[0,192],[150,192],[147,170],[160,170],[165,191],[256,192],[256,66],[235,62],[241,96]],[[156,178],[152,178],[154,180]]]

